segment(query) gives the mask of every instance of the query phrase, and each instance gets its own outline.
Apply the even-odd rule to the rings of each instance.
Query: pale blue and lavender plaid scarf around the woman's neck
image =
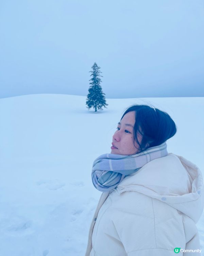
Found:
[[[167,155],[166,141],[134,155],[100,155],[93,163],[92,183],[99,191],[111,191],[118,186],[125,176],[139,171],[146,163]]]

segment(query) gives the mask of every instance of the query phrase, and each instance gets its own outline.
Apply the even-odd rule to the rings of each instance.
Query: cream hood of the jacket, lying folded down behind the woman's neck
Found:
[[[137,191],[163,201],[198,222],[204,208],[201,170],[182,156],[168,153],[126,176],[114,189]]]

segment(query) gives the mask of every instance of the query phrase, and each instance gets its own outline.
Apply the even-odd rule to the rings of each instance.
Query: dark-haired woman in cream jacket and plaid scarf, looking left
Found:
[[[175,133],[174,121],[159,109],[132,105],[124,112],[111,154],[93,164],[92,182],[103,193],[85,256],[201,255],[195,224],[204,208],[203,176],[167,152]]]

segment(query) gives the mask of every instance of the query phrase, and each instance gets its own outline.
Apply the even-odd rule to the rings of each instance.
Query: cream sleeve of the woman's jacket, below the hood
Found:
[[[113,223],[128,256],[175,256],[185,249],[182,216],[157,199],[136,191],[120,194]]]

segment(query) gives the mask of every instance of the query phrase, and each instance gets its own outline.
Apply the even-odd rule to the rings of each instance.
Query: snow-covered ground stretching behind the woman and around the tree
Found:
[[[125,108],[152,104],[177,125],[169,153],[204,173],[204,98],[106,99],[87,110],[85,96],[34,94],[0,99],[0,255],[83,256],[101,192],[93,161],[111,153]],[[197,223],[204,255],[204,214]],[[175,245],[176,247],[176,245]]]

